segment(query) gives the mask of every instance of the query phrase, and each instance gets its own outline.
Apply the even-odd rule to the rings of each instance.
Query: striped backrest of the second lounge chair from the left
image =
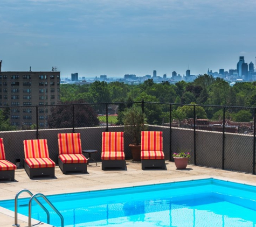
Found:
[[[49,158],[46,139],[24,140],[25,158]]]

